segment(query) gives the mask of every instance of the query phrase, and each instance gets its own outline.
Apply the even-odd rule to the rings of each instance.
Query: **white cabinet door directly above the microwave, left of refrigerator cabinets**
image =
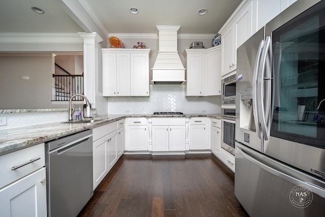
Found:
[[[221,36],[221,76],[232,71],[234,66],[234,39],[233,39],[233,25],[225,30]]]

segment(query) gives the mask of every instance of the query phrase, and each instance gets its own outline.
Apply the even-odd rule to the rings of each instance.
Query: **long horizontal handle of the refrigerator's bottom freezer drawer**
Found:
[[[278,176],[290,183],[293,183],[293,184],[296,184],[296,185],[305,185],[306,187],[308,187],[312,193],[318,195],[319,197],[322,197],[322,198],[325,198],[325,189],[315,185],[315,184],[312,184],[310,182],[306,182],[306,181],[302,181],[302,180],[299,180],[293,176],[290,176],[286,173],[283,173],[281,171],[278,171],[258,160],[256,160],[254,157],[250,156],[250,154],[246,153],[244,151],[244,147],[242,145],[239,145],[239,144],[236,144],[236,148],[237,150],[239,151],[239,153],[245,158],[247,159],[248,161],[250,161],[251,163],[255,164],[256,166],[268,171],[269,173],[272,173],[273,175],[275,176]],[[278,162],[274,162],[274,164],[280,164]],[[282,165],[282,167],[286,167],[285,165]]]

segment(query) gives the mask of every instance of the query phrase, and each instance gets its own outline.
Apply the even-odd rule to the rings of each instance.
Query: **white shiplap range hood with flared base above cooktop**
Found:
[[[185,68],[177,51],[177,32],[180,25],[156,25],[159,50],[152,70],[154,84],[182,84]]]

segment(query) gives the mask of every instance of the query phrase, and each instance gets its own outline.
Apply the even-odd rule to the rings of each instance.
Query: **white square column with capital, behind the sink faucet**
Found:
[[[96,107],[95,102],[95,75],[99,73],[99,43],[103,39],[97,33],[78,33],[83,38],[83,74],[84,74],[84,95]]]

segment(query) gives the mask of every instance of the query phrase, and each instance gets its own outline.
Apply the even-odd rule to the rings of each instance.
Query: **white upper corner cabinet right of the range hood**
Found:
[[[221,46],[208,49],[186,49],[185,96],[217,96],[221,94]]]

